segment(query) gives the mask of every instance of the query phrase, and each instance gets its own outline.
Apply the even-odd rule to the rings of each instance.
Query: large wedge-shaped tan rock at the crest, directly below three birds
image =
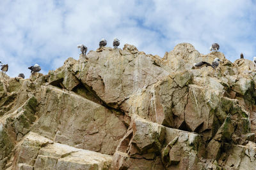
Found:
[[[154,58],[138,53],[134,46],[124,50],[102,48],[90,52],[88,60],[79,60],[72,71],[76,77],[92,88],[106,104],[118,108],[134,92],[152,86],[168,72],[154,65]]]

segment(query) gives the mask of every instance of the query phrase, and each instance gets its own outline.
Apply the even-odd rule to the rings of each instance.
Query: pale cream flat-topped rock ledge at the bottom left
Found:
[[[29,132],[16,148],[15,169],[109,169],[112,157],[97,152],[81,150],[53,143]]]

